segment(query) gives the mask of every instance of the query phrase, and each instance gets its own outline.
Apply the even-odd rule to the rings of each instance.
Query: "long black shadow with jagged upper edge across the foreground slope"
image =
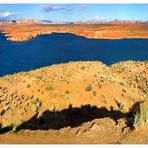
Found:
[[[117,124],[117,120],[126,117],[126,115],[126,113],[120,111],[109,111],[105,107],[97,108],[96,106],[85,105],[80,108],[73,108],[72,105],[69,105],[68,109],[62,111],[46,110],[40,117],[37,113],[30,120],[17,127],[17,131],[21,129],[57,130],[68,126],[73,128],[93,119],[106,117],[113,119]]]

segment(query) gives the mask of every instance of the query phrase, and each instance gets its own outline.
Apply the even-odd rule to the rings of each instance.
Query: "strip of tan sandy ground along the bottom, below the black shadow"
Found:
[[[130,130],[104,125],[95,125],[86,129],[65,128],[61,130],[21,130],[0,135],[1,144],[147,144],[147,129]],[[85,129],[85,130],[84,130]]]

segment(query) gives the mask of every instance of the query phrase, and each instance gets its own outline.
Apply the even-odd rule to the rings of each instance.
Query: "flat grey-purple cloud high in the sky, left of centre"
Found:
[[[52,12],[52,11],[71,11],[72,8],[58,6],[58,5],[46,5],[40,11]]]

